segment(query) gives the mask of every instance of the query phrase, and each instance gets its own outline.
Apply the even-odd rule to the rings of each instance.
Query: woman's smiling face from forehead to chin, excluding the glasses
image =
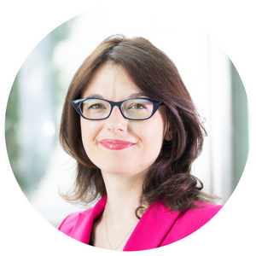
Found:
[[[96,70],[82,97],[102,97],[120,102],[141,92],[125,75],[122,67],[106,62]],[[102,172],[125,176],[148,171],[160,154],[165,127],[162,107],[146,120],[125,119],[117,106],[108,119],[88,120],[81,117],[84,150],[90,160]],[[126,143],[117,146],[115,141],[103,140]]]

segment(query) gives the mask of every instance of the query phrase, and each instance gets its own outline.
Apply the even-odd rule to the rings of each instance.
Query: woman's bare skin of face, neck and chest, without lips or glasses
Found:
[[[98,67],[82,97],[97,94],[103,99],[119,102],[139,92],[137,85],[131,82],[122,67],[107,62]],[[143,178],[160,154],[164,139],[170,140],[170,132],[166,132],[164,109],[160,107],[147,120],[129,120],[123,117],[118,107],[114,107],[108,119],[81,118],[80,122],[84,150],[101,169],[108,193],[106,208],[93,225],[93,244],[95,247],[109,249],[105,227],[107,213],[108,238],[115,248],[137,223],[134,210],[139,206]],[[111,150],[102,147],[99,143],[102,139],[128,141],[134,145]],[[123,249],[131,232],[117,250]]]

